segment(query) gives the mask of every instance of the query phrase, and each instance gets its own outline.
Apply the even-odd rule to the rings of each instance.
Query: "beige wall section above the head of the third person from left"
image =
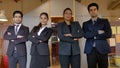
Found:
[[[63,16],[63,10],[65,8],[71,8],[73,10],[73,0],[51,0],[50,1],[51,16],[60,16],[60,17]]]

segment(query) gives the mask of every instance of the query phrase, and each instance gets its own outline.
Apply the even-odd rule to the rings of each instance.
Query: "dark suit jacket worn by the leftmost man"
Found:
[[[25,56],[26,55],[26,41],[27,41],[28,34],[29,34],[29,28],[24,25],[21,25],[17,35],[22,35],[23,38],[18,39],[17,35],[15,34],[14,27],[15,27],[14,25],[9,26],[4,34],[4,39],[9,40],[7,55],[12,56],[14,48],[16,46],[17,55]],[[10,32],[11,35],[8,35],[8,32]],[[11,42],[11,40],[14,40],[14,42]]]

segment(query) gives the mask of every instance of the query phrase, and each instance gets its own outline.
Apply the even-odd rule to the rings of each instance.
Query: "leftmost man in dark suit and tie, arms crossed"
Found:
[[[8,27],[4,34],[4,39],[9,40],[7,55],[9,68],[26,68],[26,41],[29,34],[29,28],[22,24],[23,13],[21,11],[13,12],[14,25]]]

